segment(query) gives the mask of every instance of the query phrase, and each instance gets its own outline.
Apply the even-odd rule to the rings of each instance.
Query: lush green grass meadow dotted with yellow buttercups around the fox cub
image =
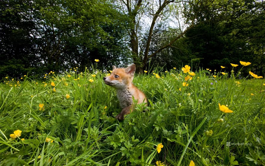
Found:
[[[96,63],[100,65],[100,61]],[[232,66],[234,64],[231,64]],[[121,111],[111,71],[53,71],[0,84],[0,165],[265,165],[265,81],[186,65],[136,74],[148,98]],[[190,71],[189,71],[190,70]]]

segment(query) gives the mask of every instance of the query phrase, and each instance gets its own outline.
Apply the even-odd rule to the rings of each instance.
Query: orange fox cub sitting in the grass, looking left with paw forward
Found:
[[[124,120],[124,115],[133,111],[133,97],[137,104],[147,103],[145,94],[133,85],[133,76],[135,73],[135,64],[127,68],[117,68],[112,66],[111,75],[104,77],[105,84],[116,89],[117,97],[120,101],[122,111],[116,116],[118,120]]]

